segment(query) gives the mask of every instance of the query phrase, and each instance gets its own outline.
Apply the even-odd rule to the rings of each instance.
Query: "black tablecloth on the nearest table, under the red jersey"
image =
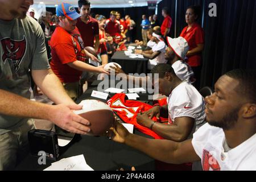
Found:
[[[79,98],[77,103],[84,99],[97,99],[95,97],[90,97],[92,90],[97,89],[98,81],[94,82],[92,88],[86,90],[84,94]],[[111,95],[110,95],[111,96]],[[146,94],[139,94],[142,98],[146,98]],[[106,102],[106,100],[101,100]],[[148,102],[148,101],[147,101]],[[134,133],[142,135],[143,137],[151,138],[134,129]],[[80,138],[80,135],[77,135]],[[135,166],[137,170],[154,170],[155,160],[149,156],[143,154],[126,146],[125,144],[113,142],[106,137],[91,137],[82,135],[77,142],[73,143],[68,148],[60,149],[62,154],[59,159],[68,158],[75,155],[84,154],[86,163],[92,167],[94,170],[116,170],[121,167],[125,169],[130,169],[131,166]],[[26,158],[18,164],[15,168],[16,170],[43,170],[54,161],[47,160],[46,164],[39,165],[38,157],[27,155]]]

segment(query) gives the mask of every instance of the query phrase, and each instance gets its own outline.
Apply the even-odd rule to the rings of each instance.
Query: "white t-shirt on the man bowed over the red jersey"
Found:
[[[187,81],[181,82],[167,99],[169,123],[175,122],[175,118],[191,117],[195,119],[195,125],[188,138],[205,122],[204,98],[197,89]]]

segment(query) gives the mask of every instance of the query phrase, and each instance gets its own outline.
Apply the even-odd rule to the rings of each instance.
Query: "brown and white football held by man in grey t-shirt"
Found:
[[[114,113],[108,104],[98,100],[83,100],[79,105],[82,105],[82,109],[73,112],[90,122],[88,135],[105,135],[114,122]]]

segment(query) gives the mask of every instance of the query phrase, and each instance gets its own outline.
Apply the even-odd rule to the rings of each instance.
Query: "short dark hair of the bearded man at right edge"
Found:
[[[234,69],[225,74],[239,81],[237,92],[256,104],[256,70]]]

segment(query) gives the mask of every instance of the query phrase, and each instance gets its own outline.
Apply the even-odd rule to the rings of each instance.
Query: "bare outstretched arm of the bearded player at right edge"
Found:
[[[115,142],[125,143],[154,159],[172,164],[182,164],[200,160],[192,146],[191,139],[185,140],[184,142],[148,139],[135,134],[130,134],[120,123],[115,123],[116,126],[110,129],[113,131],[113,133],[110,133],[110,137]]]

